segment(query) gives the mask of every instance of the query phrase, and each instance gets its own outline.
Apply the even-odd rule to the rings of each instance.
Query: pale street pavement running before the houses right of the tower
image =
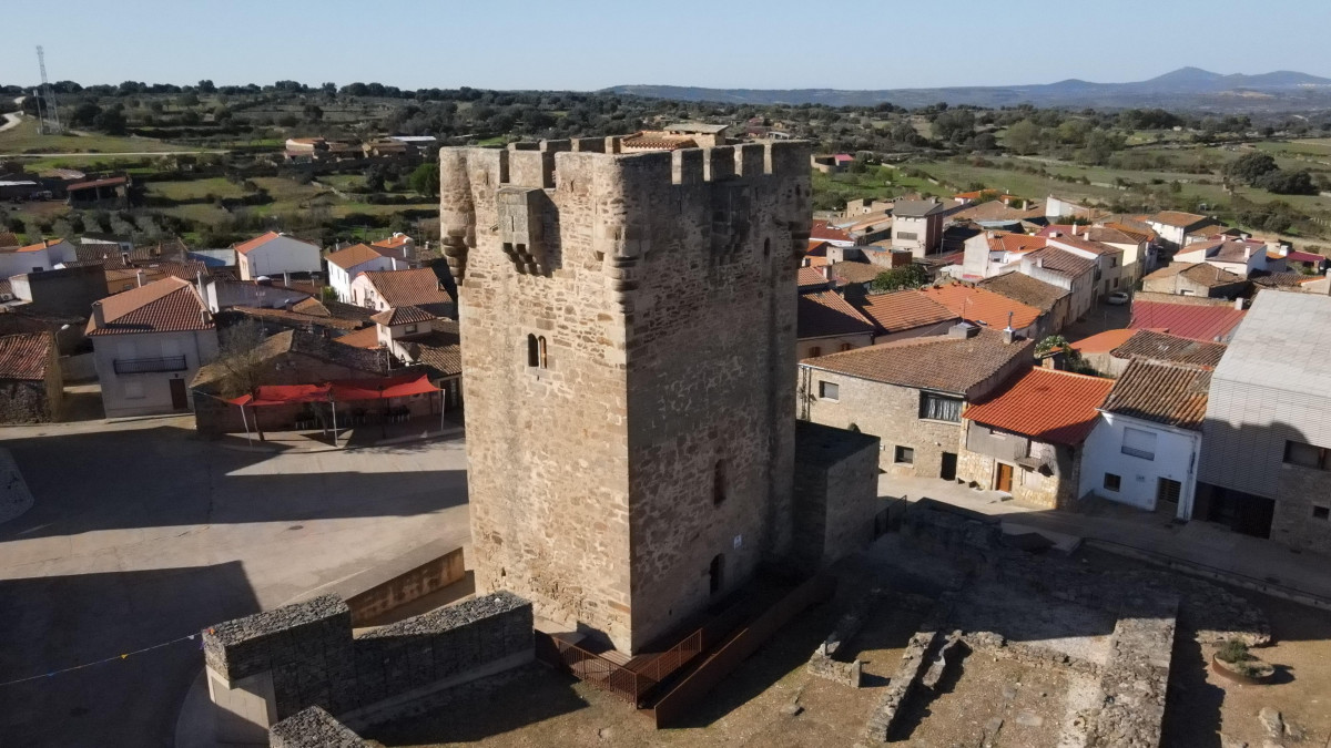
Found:
[[[882,475],[878,494],[908,500],[930,498],[996,516],[1004,524],[1020,524],[1037,531],[1099,540],[1153,556],[1167,556],[1187,564],[1247,578],[1255,583],[1287,587],[1304,595],[1331,600],[1331,558],[1295,552],[1283,546],[1240,535],[1210,522],[1186,524],[1131,507],[1099,503],[1097,514],[1066,510],[1040,510],[1017,504],[1000,491],[978,491],[936,478]],[[1119,548],[1114,548],[1119,550]]]

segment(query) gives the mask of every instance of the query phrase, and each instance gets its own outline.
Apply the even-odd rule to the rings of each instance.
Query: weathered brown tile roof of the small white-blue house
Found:
[[[1134,359],[1105,399],[1103,410],[1201,431],[1211,369]]]

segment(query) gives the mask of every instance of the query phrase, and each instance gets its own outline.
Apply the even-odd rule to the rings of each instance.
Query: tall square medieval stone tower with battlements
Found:
[[[476,591],[640,651],[789,546],[809,148],[447,148],[439,182]]]

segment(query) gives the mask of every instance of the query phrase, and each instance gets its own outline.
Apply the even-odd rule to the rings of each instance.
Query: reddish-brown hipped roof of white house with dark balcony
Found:
[[[173,333],[210,330],[213,318],[193,283],[181,278],[162,278],[125,293],[106,297],[101,305],[105,325],[88,319],[89,335],[130,333]]]

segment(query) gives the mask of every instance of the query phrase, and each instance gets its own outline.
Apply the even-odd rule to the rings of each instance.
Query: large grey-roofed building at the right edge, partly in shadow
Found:
[[[1259,293],[1211,375],[1193,516],[1331,551],[1331,297]]]

